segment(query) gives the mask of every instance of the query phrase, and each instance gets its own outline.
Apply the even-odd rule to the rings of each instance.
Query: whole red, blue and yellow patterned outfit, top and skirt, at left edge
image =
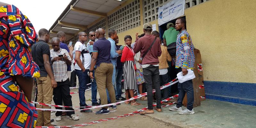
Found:
[[[12,76],[39,77],[31,46],[37,35],[33,25],[14,5],[0,7],[0,126],[35,127],[36,108],[28,103]]]

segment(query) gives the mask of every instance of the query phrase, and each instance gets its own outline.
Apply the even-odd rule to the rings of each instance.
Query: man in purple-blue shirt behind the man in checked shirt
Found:
[[[57,33],[57,37],[60,39],[60,48],[62,49],[66,49],[68,51],[69,56],[71,57],[71,59],[73,60],[73,54],[72,51],[74,50],[73,46],[70,46],[68,48],[68,45],[65,44],[66,42],[66,34],[63,31],[59,31]],[[70,52],[71,51],[71,52]],[[72,61],[71,60],[71,61]],[[67,73],[68,73],[68,79],[71,80],[71,66],[68,65],[68,69],[67,69]]]

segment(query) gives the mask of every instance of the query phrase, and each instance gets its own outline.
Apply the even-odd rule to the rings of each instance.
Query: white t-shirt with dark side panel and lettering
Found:
[[[75,56],[76,56],[76,51],[80,51],[81,55],[80,55],[80,60],[82,61],[84,68],[85,69],[90,69],[91,67],[91,60],[92,57],[89,53],[89,51],[87,50],[87,47],[85,44],[82,44],[80,41],[77,41],[74,47],[74,51],[75,51]],[[74,58],[75,58],[74,56]],[[75,64],[75,69],[77,70],[81,70],[81,68],[77,65],[77,63]]]

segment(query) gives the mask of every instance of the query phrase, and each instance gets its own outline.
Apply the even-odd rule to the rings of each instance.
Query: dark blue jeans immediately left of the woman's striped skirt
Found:
[[[116,98],[121,98],[123,68],[116,69]]]

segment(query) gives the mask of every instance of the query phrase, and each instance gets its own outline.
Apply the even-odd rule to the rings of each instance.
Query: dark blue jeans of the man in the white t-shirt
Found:
[[[86,84],[87,84],[87,77],[88,76],[88,69],[86,69],[84,72],[82,70],[76,70],[76,76],[78,76],[78,81],[79,81],[79,88],[78,88],[78,92],[79,92],[79,101],[80,101],[80,107],[85,107],[86,103],[85,103],[85,90],[86,90]]]

